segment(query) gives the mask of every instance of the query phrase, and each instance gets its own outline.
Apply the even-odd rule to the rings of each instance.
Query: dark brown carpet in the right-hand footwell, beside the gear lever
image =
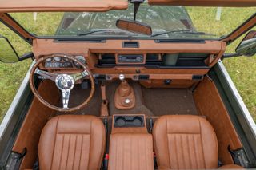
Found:
[[[192,114],[198,111],[188,89],[142,89],[145,105],[155,116]]]

